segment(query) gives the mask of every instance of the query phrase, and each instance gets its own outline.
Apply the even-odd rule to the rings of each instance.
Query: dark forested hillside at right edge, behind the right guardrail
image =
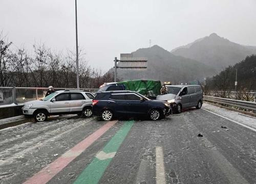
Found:
[[[236,81],[236,69],[238,71],[237,89],[256,90],[256,55],[251,55],[236,65],[229,66],[212,78],[207,78],[206,85],[209,89],[234,89]]]

